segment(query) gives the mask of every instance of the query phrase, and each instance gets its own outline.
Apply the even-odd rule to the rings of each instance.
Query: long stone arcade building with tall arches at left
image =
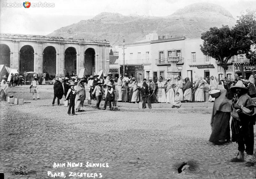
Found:
[[[109,71],[109,41],[65,39],[41,35],[0,34],[0,64],[19,72],[64,76]]]

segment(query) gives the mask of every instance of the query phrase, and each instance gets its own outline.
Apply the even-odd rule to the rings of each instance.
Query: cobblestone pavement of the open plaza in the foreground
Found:
[[[17,96],[27,95],[23,88],[17,91]],[[85,106],[84,112],[68,116],[67,107],[51,105],[52,97],[52,88],[41,88],[41,100],[24,105],[0,102],[0,173],[5,178],[53,178],[48,171],[64,172],[66,178],[80,178],[68,176],[69,172],[101,173],[104,179],[255,178],[255,166],[229,162],[237,153],[236,143],[208,142],[210,113],[121,112]],[[86,167],[87,161],[109,167]],[[189,167],[178,174],[184,161]],[[53,168],[54,162],[66,166]],[[83,165],[67,167],[67,162]],[[15,173],[17,166],[25,166],[28,175],[12,175],[21,173],[20,168]]]

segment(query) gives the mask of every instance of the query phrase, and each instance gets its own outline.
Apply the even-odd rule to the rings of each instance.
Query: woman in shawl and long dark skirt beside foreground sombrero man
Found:
[[[229,120],[231,108],[228,102],[228,92],[226,89],[220,90],[220,96],[215,98],[212,109],[212,134],[209,141],[219,145],[221,142],[230,142]]]

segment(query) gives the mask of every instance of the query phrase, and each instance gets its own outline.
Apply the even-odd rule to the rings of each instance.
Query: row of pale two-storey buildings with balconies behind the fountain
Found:
[[[134,76],[139,82],[141,78],[149,77],[154,81],[157,81],[160,76],[166,79],[170,76],[168,72],[171,69],[168,57],[174,54],[180,59],[177,67],[182,79],[189,77],[191,81],[195,81],[199,76],[202,78],[214,76],[220,80],[224,77],[223,68],[218,61],[202,53],[200,50],[202,44],[202,39],[186,39],[186,37],[125,44],[125,62],[123,62],[123,46],[120,45],[118,48],[119,56],[122,57],[119,58],[120,73],[124,63],[125,72],[129,76]],[[228,61],[226,74],[231,80],[234,79],[235,74],[248,79],[250,75],[256,74],[256,66],[250,64],[249,59],[244,55],[233,56]]]

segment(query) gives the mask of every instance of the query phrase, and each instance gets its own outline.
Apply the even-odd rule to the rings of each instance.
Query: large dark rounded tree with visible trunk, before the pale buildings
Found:
[[[211,27],[209,31],[202,34],[204,40],[200,49],[204,55],[211,56],[218,60],[220,66],[224,69],[224,76],[228,69],[228,60],[235,55],[245,54],[250,50],[252,42],[238,34],[235,27],[228,26]]]

